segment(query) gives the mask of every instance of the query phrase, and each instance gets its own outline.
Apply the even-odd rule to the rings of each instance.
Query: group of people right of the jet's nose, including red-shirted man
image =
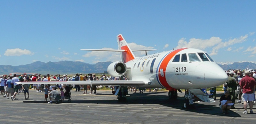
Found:
[[[250,114],[255,100],[256,70],[228,70],[228,80],[223,84],[224,95],[220,97],[220,108],[223,114],[227,114],[229,109],[234,109],[235,103],[240,104],[241,98],[244,104],[243,114],[248,114],[247,105],[250,107]],[[238,99],[236,101],[236,99]],[[236,102],[235,102],[236,101]]]

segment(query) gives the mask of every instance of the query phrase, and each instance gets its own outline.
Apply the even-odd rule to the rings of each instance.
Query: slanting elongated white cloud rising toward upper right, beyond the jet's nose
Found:
[[[242,43],[246,40],[246,38],[248,38],[248,34],[246,34],[244,36],[241,36],[240,38],[234,38],[234,39],[230,39],[226,42],[220,42],[212,48],[212,53],[210,53],[210,55],[217,55],[219,49],[224,48],[224,47],[228,47],[230,45],[234,45],[234,44],[237,44],[237,43]]]

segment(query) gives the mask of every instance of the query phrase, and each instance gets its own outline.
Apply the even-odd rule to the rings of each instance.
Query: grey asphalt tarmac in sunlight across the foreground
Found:
[[[111,91],[99,90],[97,94],[71,92],[72,101],[60,104],[44,102],[44,93],[29,91],[29,99],[24,94],[16,95],[17,100],[0,98],[1,124],[45,124],[45,123],[255,123],[255,114],[242,114],[243,104],[222,114],[219,107],[220,95],[214,103],[195,102],[192,109],[183,109],[184,93],[178,93],[177,100],[169,100],[167,91],[133,93],[129,92],[126,102],[118,102]],[[89,93],[89,92],[88,92]],[[48,98],[49,100],[49,98]],[[256,104],[254,104],[254,112]],[[248,105],[249,107],[249,105]]]

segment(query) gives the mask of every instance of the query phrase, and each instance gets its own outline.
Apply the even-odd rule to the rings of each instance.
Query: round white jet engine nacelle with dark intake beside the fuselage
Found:
[[[108,66],[108,74],[110,74],[112,77],[119,77],[124,75],[126,69],[127,68],[124,62],[113,62]]]

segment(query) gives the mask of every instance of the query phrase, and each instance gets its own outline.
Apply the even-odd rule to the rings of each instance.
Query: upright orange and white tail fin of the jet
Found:
[[[118,43],[119,49],[124,50],[124,52],[122,52],[122,55],[121,55],[121,59],[124,61],[124,63],[132,59],[135,59],[133,52],[131,51],[130,47],[127,45],[122,34],[117,35],[117,43]]]

